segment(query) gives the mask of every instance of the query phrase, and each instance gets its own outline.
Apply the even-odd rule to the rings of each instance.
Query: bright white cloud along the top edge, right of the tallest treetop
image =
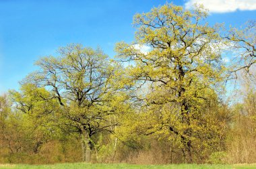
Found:
[[[188,0],[185,8],[192,9],[195,3],[202,4],[210,13],[256,10],[256,0]]]

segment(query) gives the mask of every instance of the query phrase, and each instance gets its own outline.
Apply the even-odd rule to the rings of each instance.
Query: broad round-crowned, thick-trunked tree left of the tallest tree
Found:
[[[94,136],[112,131],[125,109],[125,95],[119,90],[116,77],[119,65],[97,48],[71,44],[59,49],[59,56],[46,56],[36,62],[40,70],[26,81],[51,92],[44,100],[55,99],[61,105],[65,125],[82,135],[83,160],[90,162]],[[121,69],[120,69],[121,70]],[[117,116],[117,117],[115,117]]]

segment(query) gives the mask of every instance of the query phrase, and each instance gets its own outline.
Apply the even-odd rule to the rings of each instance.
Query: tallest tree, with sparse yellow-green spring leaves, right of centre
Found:
[[[205,17],[202,7],[193,11],[172,4],[154,7],[135,15],[135,42],[116,46],[119,58],[130,63],[126,70],[130,83],[140,89],[148,86],[146,93],[136,96],[142,103],[137,129],[174,138],[189,163],[196,161],[193,156],[202,158],[204,150],[217,151],[224,120],[210,108],[221,107],[221,39],[218,27],[205,23]]]

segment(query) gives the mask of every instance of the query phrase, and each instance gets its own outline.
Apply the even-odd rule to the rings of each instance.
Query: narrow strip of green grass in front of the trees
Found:
[[[84,163],[63,163],[53,165],[26,165],[26,164],[0,164],[0,168],[92,168],[92,169],[108,169],[108,168],[173,168],[173,169],[194,169],[194,168],[256,168],[256,164],[235,164],[235,165],[209,165],[209,164],[172,164],[172,165],[131,165],[131,164],[84,164]]]

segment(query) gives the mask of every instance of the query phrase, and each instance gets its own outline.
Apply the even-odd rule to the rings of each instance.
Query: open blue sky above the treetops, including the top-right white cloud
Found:
[[[193,3],[203,3],[210,9],[210,24],[225,22],[238,27],[256,19],[255,0],[172,2],[187,9]],[[116,42],[133,40],[133,15],[164,3],[166,0],[0,0],[0,94],[18,89],[18,81],[36,70],[34,61],[40,56],[55,55],[60,46],[101,46],[110,57],[115,56]]]

